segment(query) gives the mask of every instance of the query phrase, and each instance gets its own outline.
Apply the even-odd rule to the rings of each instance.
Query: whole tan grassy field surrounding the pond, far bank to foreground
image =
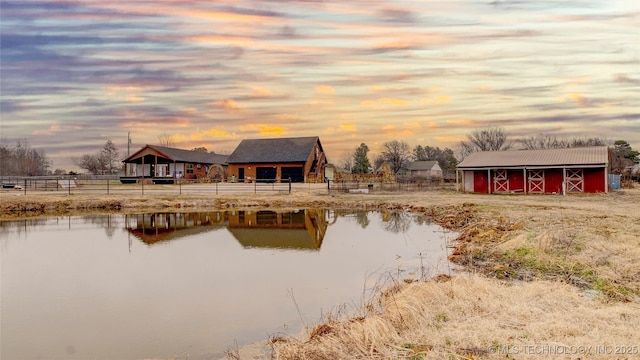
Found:
[[[640,189],[592,195],[0,193],[0,217],[309,207],[411,211],[455,230],[464,272],[393,279],[349,316],[265,339],[277,359],[637,358]],[[336,304],[340,305],[340,304]],[[255,347],[229,358],[260,358]]]

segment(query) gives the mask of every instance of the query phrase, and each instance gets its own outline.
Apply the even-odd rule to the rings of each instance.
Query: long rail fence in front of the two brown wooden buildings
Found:
[[[286,192],[291,193],[291,179],[256,179],[251,182],[207,182],[199,179],[140,179],[123,184],[118,177],[0,177],[1,191],[24,194],[56,192],[61,194],[152,194],[152,193],[233,193]]]

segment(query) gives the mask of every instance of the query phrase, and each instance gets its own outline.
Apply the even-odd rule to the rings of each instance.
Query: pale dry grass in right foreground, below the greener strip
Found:
[[[274,343],[276,358],[510,358],[505,352],[518,359],[576,358],[580,355],[539,352],[638,345],[640,331],[637,304],[604,304],[549,281],[509,283],[458,275],[448,282],[399,285],[380,294],[378,304],[364,318],[323,325],[319,335]],[[493,353],[497,349],[502,353]],[[611,354],[599,356],[591,349],[583,357]]]

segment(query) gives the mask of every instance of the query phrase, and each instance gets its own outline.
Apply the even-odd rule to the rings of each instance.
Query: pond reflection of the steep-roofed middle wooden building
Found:
[[[327,232],[325,210],[233,211],[229,231],[243,247],[320,250]]]

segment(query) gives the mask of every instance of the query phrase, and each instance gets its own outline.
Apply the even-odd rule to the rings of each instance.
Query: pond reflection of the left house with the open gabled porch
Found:
[[[226,226],[224,211],[126,215],[125,221],[127,231],[148,245]]]

